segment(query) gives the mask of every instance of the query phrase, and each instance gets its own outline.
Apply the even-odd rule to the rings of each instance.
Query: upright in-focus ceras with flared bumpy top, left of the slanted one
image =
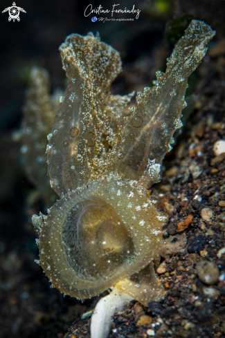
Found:
[[[99,38],[73,34],[60,51],[69,86],[47,151],[51,186],[62,196],[105,171],[107,147],[102,138],[111,134],[112,122],[130,96],[109,93],[121,71],[120,55]]]

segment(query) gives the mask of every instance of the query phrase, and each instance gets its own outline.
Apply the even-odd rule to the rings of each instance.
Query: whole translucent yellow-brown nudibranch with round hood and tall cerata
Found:
[[[182,125],[188,77],[214,35],[192,20],[166,72],[156,72],[155,85],[137,94],[124,124],[118,121],[132,95],[110,93],[121,71],[118,52],[91,33],[70,35],[60,46],[69,86],[47,146],[48,176],[60,200],[33,223],[40,263],[64,294],[85,299],[114,287],[125,301],[145,306],[164,296],[151,263],[160,254],[163,216],[147,189],[160,180]],[[106,337],[95,325],[92,337]]]

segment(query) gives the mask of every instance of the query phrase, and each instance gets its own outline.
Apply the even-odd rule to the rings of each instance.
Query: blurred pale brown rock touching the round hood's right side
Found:
[[[186,235],[170,236],[169,238],[166,238],[163,243],[164,246],[161,256],[165,257],[170,254],[177,254],[178,252],[185,251],[184,247],[187,243],[187,237]]]

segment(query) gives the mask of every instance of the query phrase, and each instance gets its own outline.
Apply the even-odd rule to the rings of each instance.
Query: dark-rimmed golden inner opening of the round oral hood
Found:
[[[116,210],[102,198],[80,200],[69,212],[62,239],[66,260],[80,278],[102,279],[134,259],[134,243]]]

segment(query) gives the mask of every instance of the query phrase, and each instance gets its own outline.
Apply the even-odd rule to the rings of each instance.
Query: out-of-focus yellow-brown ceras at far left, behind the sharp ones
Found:
[[[50,95],[48,72],[44,68],[33,67],[26,90],[21,130],[14,135],[15,140],[21,143],[21,153],[30,182],[42,191],[50,205],[55,202],[55,193],[47,176],[46,146],[61,95],[59,90]]]

